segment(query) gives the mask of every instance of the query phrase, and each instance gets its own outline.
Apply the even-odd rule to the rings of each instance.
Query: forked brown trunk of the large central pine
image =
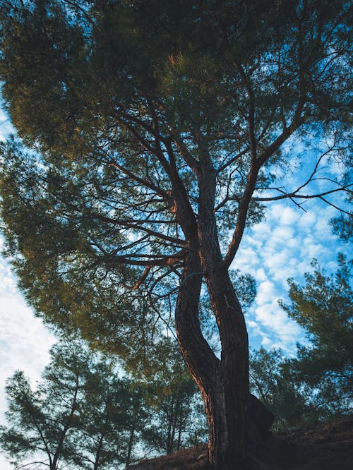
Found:
[[[215,171],[207,152],[201,160],[197,224],[189,224],[190,229],[184,224],[189,249],[177,301],[177,336],[205,404],[210,464],[215,470],[249,470],[251,453],[259,444],[261,432],[264,434],[272,421],[249,392],[249,344],[244,315],[217,236]],[[178,217],[179,221],[187,219],[183,210]],[[198,318],[203,277],[220,333],[220,359],[205,341]],[[262,428],[258,420],[264,421]]]

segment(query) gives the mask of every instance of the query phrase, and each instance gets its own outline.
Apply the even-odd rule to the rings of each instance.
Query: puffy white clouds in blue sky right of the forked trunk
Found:
[[[241,242],[234,267],[253,275],[258,289],[246,318],[251,347],[281,347],[293,355],[296,343],[306,339],[304,331],[277,303],[281,298],[287,301],[287,279],[304,282],[312,258],[328,271],[335,270],[337,251],[348,250],[337,243],[328,224],[334,208],[321,203],[306,208],[308,212],[273,204],[265,222],[249,229]]]

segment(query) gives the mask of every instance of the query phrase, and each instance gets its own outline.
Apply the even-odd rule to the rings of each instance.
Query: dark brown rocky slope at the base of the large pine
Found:
[[[263,470],[353,470],[353,416],[315,428],[270,434],[261,454]],[[133,470],[208,469],[206,446],[145,460]]]

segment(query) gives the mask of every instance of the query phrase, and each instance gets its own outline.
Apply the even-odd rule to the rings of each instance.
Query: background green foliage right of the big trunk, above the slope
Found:
[[[250,355],[251,390],[275,414],[275,429],[352,411],[352,261],[339,255],[333,275],[316,260],[312,266],[304,286],[289,279],[291,303],[280,303],[304,327],[310,346],[298,344],[297,358],[263,348]]]

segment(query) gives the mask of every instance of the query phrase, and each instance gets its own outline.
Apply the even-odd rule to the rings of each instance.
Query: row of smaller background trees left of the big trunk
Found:
[[[205,440],[200,398],[175,342],[161,341],[139,378],[136,370],[120,378],[112,356],[82,341],[59,342],[50,354],[35,390],[22,372],[8,379],[0,445],[13,464],[109,470]]]

